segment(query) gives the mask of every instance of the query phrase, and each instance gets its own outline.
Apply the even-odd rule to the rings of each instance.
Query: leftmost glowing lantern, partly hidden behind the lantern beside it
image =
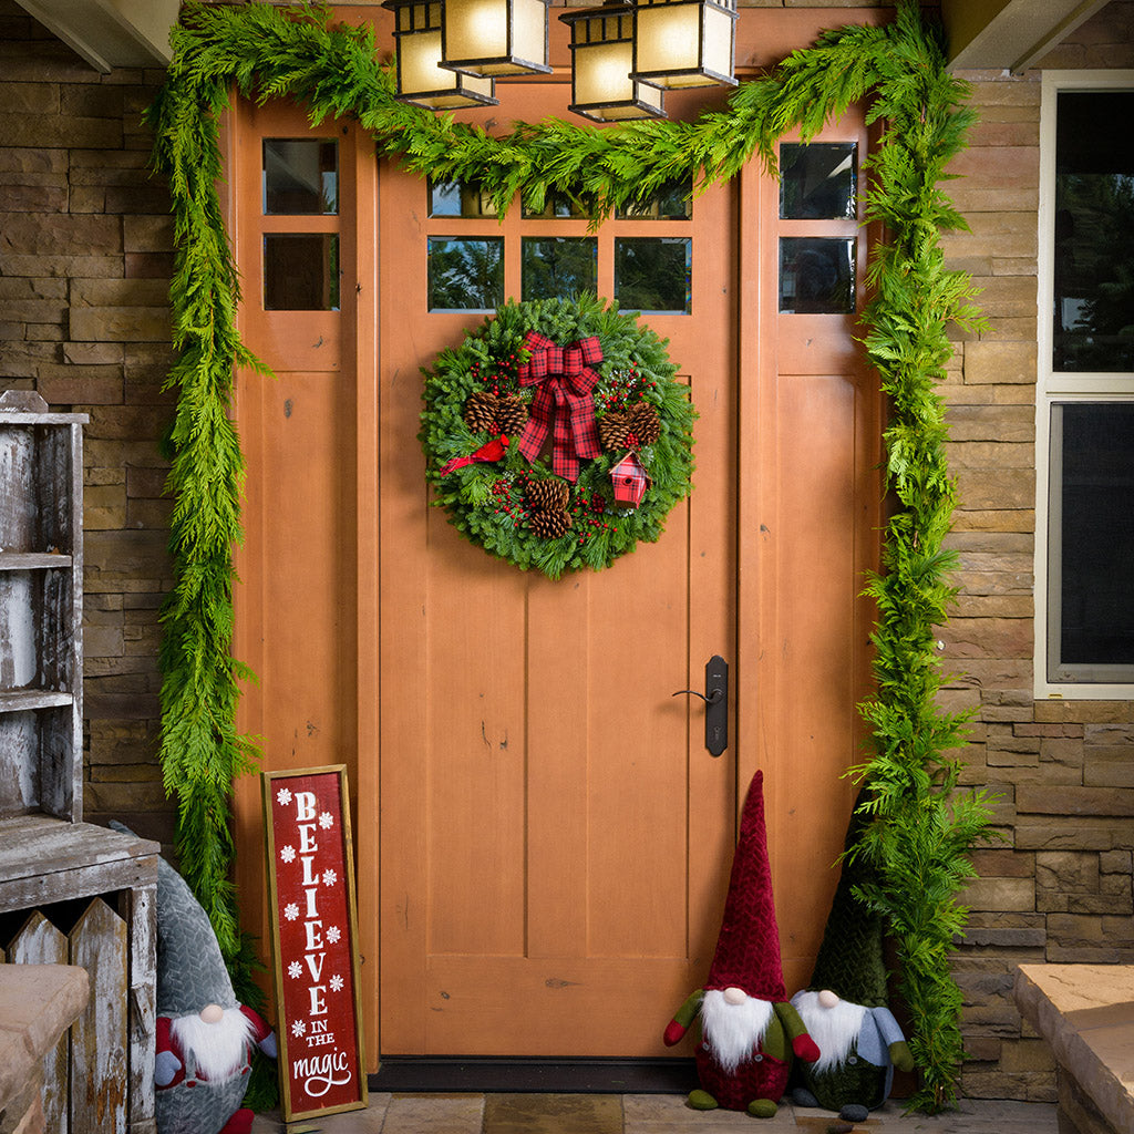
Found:
[[[441,69],[441,0],[384,0],[393,12],[399,102],[430,110],[494,107],[490,78]]]

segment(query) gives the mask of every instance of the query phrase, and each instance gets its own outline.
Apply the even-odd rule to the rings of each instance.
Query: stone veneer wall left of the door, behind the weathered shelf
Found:
[[[0,0],[0,390],[85,431],[86,818],[169,843],[156,763],[172,223],[146,174],[161,70],[100,75]]]

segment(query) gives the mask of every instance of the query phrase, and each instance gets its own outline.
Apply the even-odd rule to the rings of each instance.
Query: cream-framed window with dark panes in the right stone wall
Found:
[[[1134,697],[1134,74],[1046,71],[1035,687]]]

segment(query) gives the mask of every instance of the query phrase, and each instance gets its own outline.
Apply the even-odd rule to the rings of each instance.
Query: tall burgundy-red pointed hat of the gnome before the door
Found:
[[[738,988],[761,1000],[787,999],[768,864],[762,771],[752,777],[741,813],[741,837],[733,858],[725,916],[705,988]]]

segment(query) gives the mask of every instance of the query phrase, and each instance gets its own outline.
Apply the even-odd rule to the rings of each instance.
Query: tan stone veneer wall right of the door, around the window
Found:
[[[1134,3],[1111,2],[1040,61],[1134,67]],[[1021,962],[1134,963],[1134,703],[1032,695],[1040,70],[964,71],[981,122],[948,191],[972,234],[946,243],[991,328],[957,342],[943,393],[962,506],[962,594],[941,629],[946,692],[974,706],[966,780],[998,792],[1006,841],[976,855],[965,992],[967,1094],[1053,1099],[1050,1052],[1012,999]]]

